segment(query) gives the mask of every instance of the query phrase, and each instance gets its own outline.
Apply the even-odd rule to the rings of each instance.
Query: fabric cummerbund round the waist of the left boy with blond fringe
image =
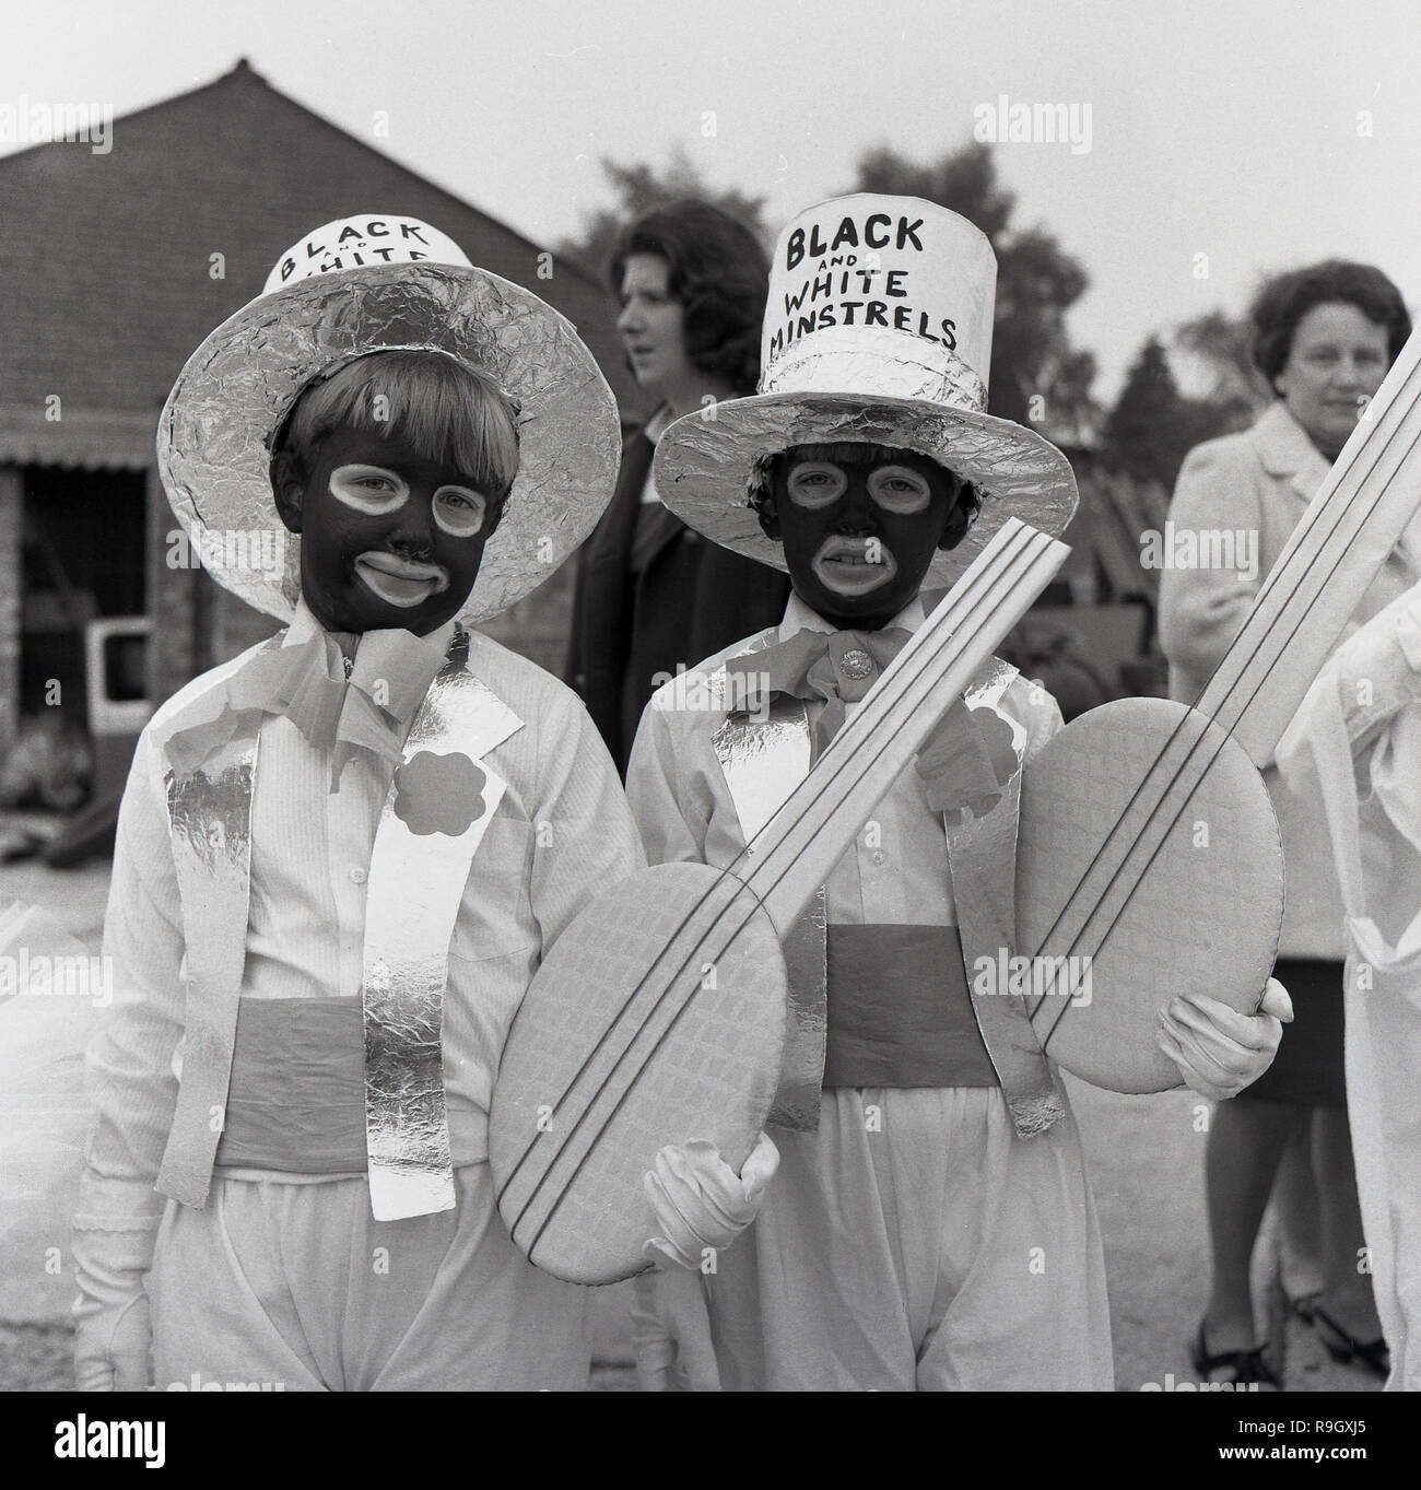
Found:
[[[487,1115],[450,1109],[454,1165],[487,1155]],[[359,998],[243,998],[216,1164],[282,1174],[359,1174],[365,1021]]]

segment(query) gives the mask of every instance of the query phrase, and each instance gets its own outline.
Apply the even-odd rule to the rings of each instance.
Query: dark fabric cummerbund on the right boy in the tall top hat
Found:
[[[825,1086],[996,1086],[956,927],[828,927]]]

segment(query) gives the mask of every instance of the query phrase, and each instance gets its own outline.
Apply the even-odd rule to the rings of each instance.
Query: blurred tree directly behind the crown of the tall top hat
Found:
[[[1090,398],[1095,358],[1071,346],[1065,313],[1089,277],[1044,228],[1011,226],[1016,197],[996,180],[991,149],[973,143],[919,165],[882,146],[859,159],[852,189],[922,197],[986,234],[996,255],[989,410],[1058,441],[1081,443],[1099,416]]]

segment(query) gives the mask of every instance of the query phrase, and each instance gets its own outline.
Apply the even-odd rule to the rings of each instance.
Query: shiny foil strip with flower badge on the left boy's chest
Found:
[[[365,910],[365,1140],[375,1220],[453,1210],[444,1098],[448,945],[506,790],[481,760],[523,721],[465,666],[460,635],[410,727],[380,814]]]

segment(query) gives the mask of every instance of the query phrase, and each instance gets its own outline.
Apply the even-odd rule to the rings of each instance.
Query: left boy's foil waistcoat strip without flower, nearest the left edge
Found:
[[[185,1034],[158,1189],[206,1205],[222,1137],[252,887],[256,738],[238,736],[191,775],[165,776],[168,839],[182,901]]]

